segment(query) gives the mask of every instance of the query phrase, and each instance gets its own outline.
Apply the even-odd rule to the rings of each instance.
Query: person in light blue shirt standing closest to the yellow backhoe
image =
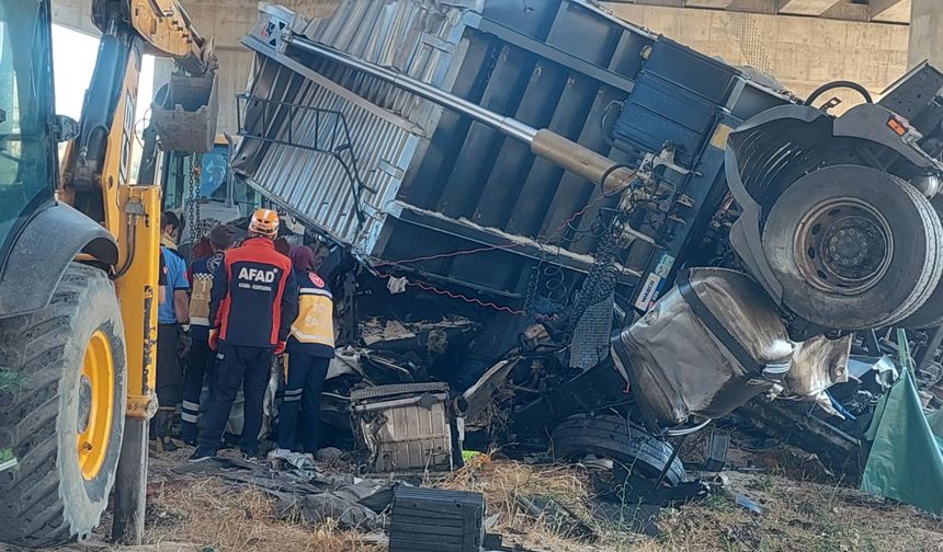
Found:
[[[158,450],[175,450],[170,438],[173,413],[180,404],[183,391],[183,370],[180,367],[178,345],[183,324],[190,322],[188,308],[186,262],[177,252],[180,235],[180,218],[171,211],[161,215],[160,256],[163,264],[166,291],[163,302],[157,307],[157,402],[159,409],[151,430],[157,438]]]

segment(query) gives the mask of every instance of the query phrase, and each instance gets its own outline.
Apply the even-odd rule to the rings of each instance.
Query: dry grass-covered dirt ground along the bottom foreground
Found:
[[[93,538],[72,551],[223,552],[330,551],[380,552],[375,536],[339,531],[332,524],[279,520],[273,501],[254,490],[238,490],[214,478],[181,478],[171,472],[189,449],[155,455],[148,485],[147,545],[114,547]],[[578,467],[527,465],[479,457],[463,470],[428,475],[425,483],[482,492],[488,501],[490,532],[539,552],[660,551],[811,551],[943,552],[943,520],[913,508],[890,504],[838,484],[797,481],[785,470],[727,471],[708,498],[662,509],[655,520],[659,533],[646,537],[627,528],[626,505],[603,521],[592,494],[591,473]],[[527,517],[515,497],[555,498],[586,520],[599,534],[592,543],[568,539],[559,529]],[[761,514],[739,506],[735,497],[753,501]],[[103,527],[110,526],[105,519]]]

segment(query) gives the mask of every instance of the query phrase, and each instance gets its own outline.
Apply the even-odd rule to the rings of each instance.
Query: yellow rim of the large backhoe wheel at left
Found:
[[[94,479],[104,464],[114,416],[114,364],[107,336],[98,331],[86,348],[79,382],[78,455],[82,478]]]

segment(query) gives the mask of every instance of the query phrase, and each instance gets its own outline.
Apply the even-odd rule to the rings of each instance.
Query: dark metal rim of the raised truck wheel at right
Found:
[[[857,199],[822,203],[796,229],[796,265],[822,291],[855,295],[887,273],[894,239],[887,220]]]

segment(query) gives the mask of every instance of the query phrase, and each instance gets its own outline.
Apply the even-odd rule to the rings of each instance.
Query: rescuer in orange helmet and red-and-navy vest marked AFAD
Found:
[[[298,309],[292,262],[275,251],[279,215],[259,209],[249,221],[249,238],[223,256],[213,276],[209,302],[209,347],[217,352],[216,381],[206,430],[190,457],[216,456],[239,387],[246,399],[240,449],[259,455],[262,403],[272,354],[285,350],[285,340]]]

